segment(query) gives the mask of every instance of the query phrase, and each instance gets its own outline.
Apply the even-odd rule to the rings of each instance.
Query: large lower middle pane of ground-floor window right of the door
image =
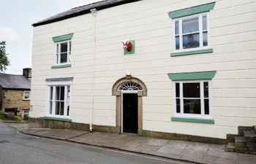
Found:
[[[197,100],[184,99],[184,113],[185,114],[201,114],[200,99],[197,99]]]

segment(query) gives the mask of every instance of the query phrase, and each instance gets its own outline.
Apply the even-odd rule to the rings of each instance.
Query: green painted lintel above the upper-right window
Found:
[[[186,9],[178,9],[173,12],[169,12],[168,15],[170,18],[177,18],[177,17],[185,17],[188,15],[195,15],[201,12],[208,12],[211,9],[214,9],[215,1],[210,4],[202,4],[196,7],[189,7]]]

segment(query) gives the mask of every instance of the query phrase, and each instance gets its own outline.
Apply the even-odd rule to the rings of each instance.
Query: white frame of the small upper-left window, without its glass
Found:
[[[66,63],[61,63],[61,44],[62,43],[67,43],[67,62]],[[72,44],[71,40],[56,42],[55,48],[54,48],[54,58],[55,58],[55,65],[56,66],[71,63],[71,47],[70,47],[71,44]],[[64,53],[64,52],[62,52],[62,53]],[[57,59],[57,55],[58,55],[58,59]]]

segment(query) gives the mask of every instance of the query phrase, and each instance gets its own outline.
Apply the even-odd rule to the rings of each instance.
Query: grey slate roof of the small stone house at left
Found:
[[[0,85],[4,89],[30,90],[30,83],[23,75],[0,73]]]

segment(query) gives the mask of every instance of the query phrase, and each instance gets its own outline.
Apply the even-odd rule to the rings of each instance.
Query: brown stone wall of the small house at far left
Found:
[[[30,109],[30,101],[23,100],[24,90],[3,90],[2,109],[18,108],[18,116],[23,115],[23,109]]]

